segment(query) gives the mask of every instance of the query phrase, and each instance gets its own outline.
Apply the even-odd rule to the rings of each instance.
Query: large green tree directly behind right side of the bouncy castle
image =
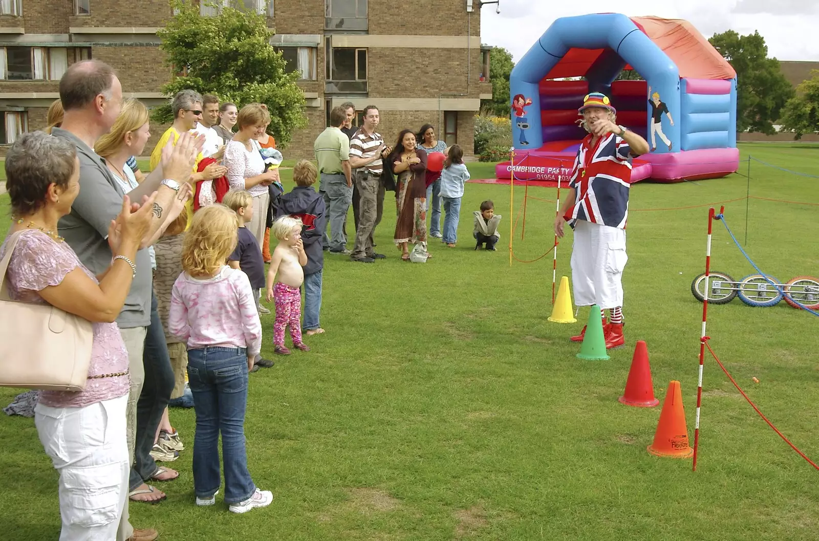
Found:
[[[785,102],[794,88],[785,79],[776,58],[767,57],[765,38],[758,32],[740,36],[734,30],[714,34],[708,41],[736,71],[736,129],[774,133]]]

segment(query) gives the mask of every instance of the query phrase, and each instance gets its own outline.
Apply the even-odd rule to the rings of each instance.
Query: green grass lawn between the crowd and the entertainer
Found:
[[[746,144],[742,151],[819,174],[819,146]],[[757,163],[751,176],[753,196],[819,204],[817,178]],[[473,178],[481,178],[477,169]],[[746,187],[732,175],[632,188],[627,347],[605,362],[575,358],[579,348],[568,336],[582,322],[546,321],[551,256],[509,266],[508,186],[469,184],[458,247],[432,242],[434,258],[423,265],[402,263],[392,246],[388,196],[376,234],[387,259],[361,265],[328,256],[327,333],[305,340],[310,353],[276,358],[275,367],[251,375],[248,462],[256,484],[273,490],[273,505],[233,516],[220,493],[215,507],[195,507],[194,413],[174,410],[187,445],[170,465],[180,477],[160,484],[165,502],[132,503],[133,524],[180,541],[819,538],[817,471],[762,422],[716,363],[708,360],[704,372],[696,473],[690,460],[646,452],[659,408],[617,400],[634,342],[646,340],[661,403],[668,381],[681,381],[693,444],[702,305],[690,282],[704,268],[708,209],[646,209],[731,200]],[[554,198],[553,189],[529,194]],[[514,196],[517,209],[523,189]],[[472,250],[471,211],[487,198],[503,215],[494,253]],[[0,201],[7,207],[7,196]],[[746,248],[782,281],[817,275],[816,217],[816,206],[751,200]],[[553,203],[529,201],[526,237],[518,226],[514,241],[519,259],[548,250],[553,219]],[[726,219],[743,240],[745,201],[726,205]],[[570,274],[570,251],[571,234],[559,246],[559,275]],[[720,223],[712,268],[737,279],[753,273]],[[272,357],[273,316],[262,322]],[[736,380],[814,460],[817,324],[784,302],[756,309],[740,300],[713,306],[708,323],[711,345]],[[14,394],[0,390],[0,403]],[[57,474],[32,420],[0,416],[0,442],[2,537],[57,539]]]

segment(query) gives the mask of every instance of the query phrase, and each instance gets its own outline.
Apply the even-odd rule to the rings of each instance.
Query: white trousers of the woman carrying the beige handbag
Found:
[[[130,472],[127,405],[126,394],[84,408],[34,408],[40,442],[60,473],[60,541],[116,538]]]

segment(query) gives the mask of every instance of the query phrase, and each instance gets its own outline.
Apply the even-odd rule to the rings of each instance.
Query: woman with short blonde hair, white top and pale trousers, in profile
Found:
[[[247,228],[259,246],[265,241],[265,218],[270,206],[268,187],[278,180],[278,170],[265,171],[257,138],[265,133],[270,114],[260,103],[249,103],[239,110],[238,132],[224,147],[224,165],[232,190],[247,190],[253,196],[253,220]]]

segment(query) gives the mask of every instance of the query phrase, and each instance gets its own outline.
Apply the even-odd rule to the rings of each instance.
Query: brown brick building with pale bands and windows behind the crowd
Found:
[[[312,156],[329,109],[344,101],[378,106],[390,144],[400,129],[430,122],[471,153],[474,115],[491,97],[480,0],[218,0],[235,2],[267,16],[271,43],[301,74],[309,125],[294,134],[287,157]],[[218,9],[200,7],[203,16]],[[170,16],[167,0],[0,0],[0,149],[45,126],[75,61],[106,61],[126,96],[160,104],[170,68],[156,29]],[[147,152],[163,128],[152,126]]]

